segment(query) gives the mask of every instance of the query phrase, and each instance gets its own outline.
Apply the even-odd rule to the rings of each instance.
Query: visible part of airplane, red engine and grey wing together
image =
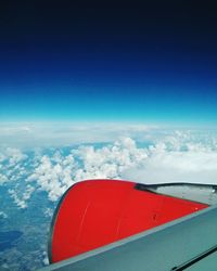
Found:
[[[51,227],[49,258],[56,263],[42,270],[216,270],[216,188],[180,185],[73,185]]]

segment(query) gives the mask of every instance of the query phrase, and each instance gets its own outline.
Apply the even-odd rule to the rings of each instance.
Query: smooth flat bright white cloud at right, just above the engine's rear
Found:
[[[216,145],[205,145],[203,142],[187,142],[183,145],[176,141],[171,151],[167,143],[162,142],[150,147],[149,158],[127,169],[123,177],[143,183],[217,184]],[[174,144],[174,141],[170,143]],[[181,149],[184,151],[180,151]]]

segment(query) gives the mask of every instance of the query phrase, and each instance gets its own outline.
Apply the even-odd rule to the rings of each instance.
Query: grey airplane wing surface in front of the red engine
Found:
[[[217,245],[217,207],[213,206],[150,231],[51,264],[41,271],[170,271]],[[197,269],[196,268],[197,264]],[[217,253],[188,269],[214,270]]]

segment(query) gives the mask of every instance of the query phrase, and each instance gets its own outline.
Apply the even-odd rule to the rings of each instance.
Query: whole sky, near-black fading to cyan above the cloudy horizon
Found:
[[[79,2],[1,2],[1,119],[216,124],[215,5]]]

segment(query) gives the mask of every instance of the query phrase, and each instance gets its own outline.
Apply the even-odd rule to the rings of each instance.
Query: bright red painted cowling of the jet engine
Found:
[[[90,180],[65,194],[53,227],[52,262],[166,223],[207,205],[139,191],[136,183]]]

